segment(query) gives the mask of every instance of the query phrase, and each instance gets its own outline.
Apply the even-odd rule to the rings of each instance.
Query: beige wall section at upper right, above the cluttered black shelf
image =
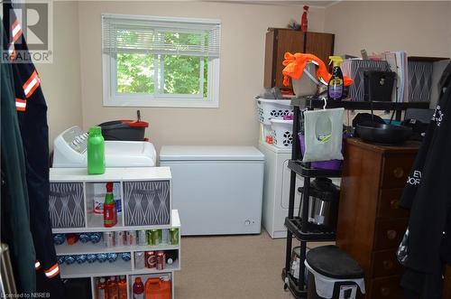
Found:
[[[327,7],[325,30],[336,34],[337,54],[451,57],[451,2],[341,1]]]

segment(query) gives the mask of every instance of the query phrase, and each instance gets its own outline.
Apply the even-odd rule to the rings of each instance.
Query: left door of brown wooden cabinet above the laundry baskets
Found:
[[[273,86],[281,89],[292,89],[291,82],[290,86],[283,85],[283,75],[281,71],[285,67],[282,65],[282,61],[284,60],[283,57],[287,51],[291,54],[304,51],[304,33],[293,30],[278,30],[276,33],[276,42],[277,51],[275,60],[273,61],[275,64],[275,84]]]

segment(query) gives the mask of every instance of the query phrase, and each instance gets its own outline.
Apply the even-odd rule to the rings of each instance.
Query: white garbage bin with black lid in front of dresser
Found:
[[[308,299],[354,299],[365,293],[364,270],[336,246],[322,246],[308,251]]]

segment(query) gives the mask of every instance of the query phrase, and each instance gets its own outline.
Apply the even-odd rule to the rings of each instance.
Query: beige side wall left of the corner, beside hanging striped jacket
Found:
[[[53,3],[53,63],[37,63],[49,107],[49,143],[69,126],[81,126],[78,4]]]

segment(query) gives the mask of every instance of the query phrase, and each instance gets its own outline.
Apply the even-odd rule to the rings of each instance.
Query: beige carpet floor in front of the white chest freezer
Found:
[[[179,299],[285,299],[281,269],[285,238],[260,235],[183,237],[181,271],[175,275]],[[293,240],[293,245],[299,242]],[[324,243],[322,244],[324,245]],[[318,243],[308,243],[308,248]]]

